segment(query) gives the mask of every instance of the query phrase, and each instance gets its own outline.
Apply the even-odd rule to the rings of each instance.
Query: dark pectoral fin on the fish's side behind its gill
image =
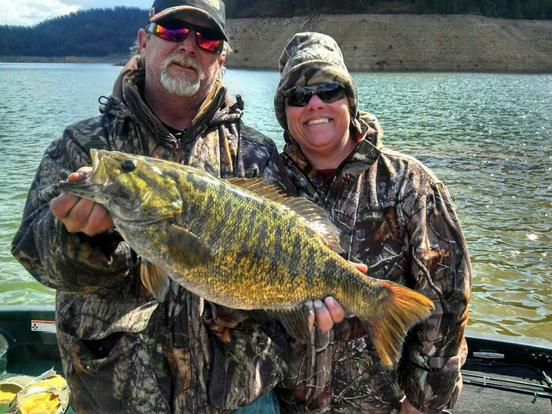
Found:
[[[211,250],[203,240],[176,224],[168,227],[167,248],[175,261],[185,268],[205,266],[213,260]]]

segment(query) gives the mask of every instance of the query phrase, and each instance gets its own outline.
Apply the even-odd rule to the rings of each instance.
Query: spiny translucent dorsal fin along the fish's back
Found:
[[[299,219],[317,233],[328,248],[331,248],[337,253],[343,253],[344,250],[339,246],[339,230],[335,227],[324,208],[317,206],[312,201],[303,197],[288,197],[282,193],[282,189],[269,184],[259,178],[230,178],[227,180],[230,184],[239,186],[251,191],[257,195],[262,195],[267,199],[280,203],[296,215]]]

